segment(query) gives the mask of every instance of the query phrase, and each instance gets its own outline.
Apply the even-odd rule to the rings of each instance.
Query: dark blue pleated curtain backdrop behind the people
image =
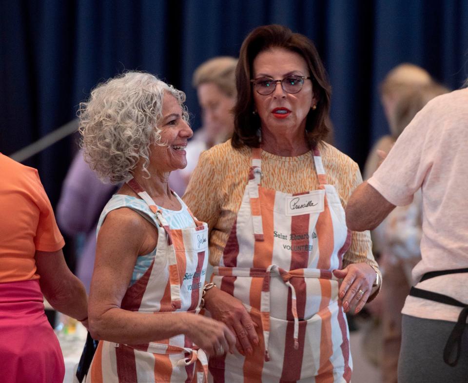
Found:
[[[328,70],[335,145],[363,164],[388,127],[378,84],[401,62],[454,89],[468,77],[468,2],[463,0],[71,0],[0,5],[0,151],[6,155],[74,118],[98,82],[137,69],[187,93],[213,56],[237,56],[256,26],[280,23],[311,38]],[[55,203],[71,137],[25,163],[39,168]]]

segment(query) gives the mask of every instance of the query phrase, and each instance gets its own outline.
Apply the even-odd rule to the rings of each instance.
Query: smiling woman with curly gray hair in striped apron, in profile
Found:
[[[80,105],[84,156],[100,178],[124,181],[104,207],[89,322],[99,345],[87,382],[206,382],[206,353],[234,335],[201,315],[208,227],[168,186],[187,165],[185,94],[128,72]],[[206,288],[206,287],[205,287]]]

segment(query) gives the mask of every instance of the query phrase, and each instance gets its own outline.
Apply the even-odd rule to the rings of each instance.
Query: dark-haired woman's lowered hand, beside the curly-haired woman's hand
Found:
[[[257,326],[251,319],[242,302],[232,295],[214,287],[206,292],[205,307],[212,318],[226,323],[237,338],[235,346],[242,355],[252,355],[258,345]]]

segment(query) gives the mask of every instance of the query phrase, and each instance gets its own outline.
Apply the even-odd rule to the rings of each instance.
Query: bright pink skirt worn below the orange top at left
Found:
[[[0,381],[62,383],[59,340],[47,321],[39,282],[0,283]]]

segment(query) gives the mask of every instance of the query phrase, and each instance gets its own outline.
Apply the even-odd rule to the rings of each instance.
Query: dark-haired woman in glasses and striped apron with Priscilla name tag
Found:
[[[369,232],[344,206],[362,182],[324,142],[330,84],[311,40],[256,28],[240,50],[232,140],[204,152],[185,202],[210,227],[206,310],[233,330],[214,382],[350,382],[345,313],[376,295]]]

